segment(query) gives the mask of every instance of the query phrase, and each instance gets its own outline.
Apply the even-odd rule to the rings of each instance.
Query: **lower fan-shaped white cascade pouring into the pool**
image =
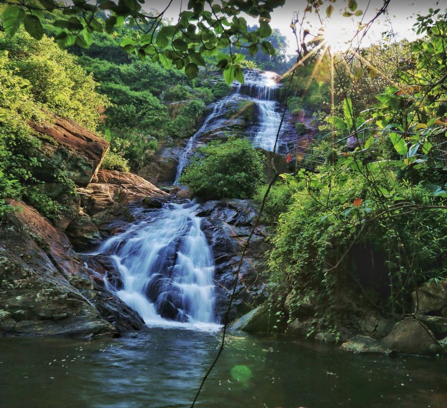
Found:
[[[217,329],[214,259],[195,202],[170,203],[99,248],[121,274],[120,299],[148,325]]]

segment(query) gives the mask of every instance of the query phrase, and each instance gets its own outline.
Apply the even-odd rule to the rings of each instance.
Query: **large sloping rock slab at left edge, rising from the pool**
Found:
[[[8,335],[115,336],[140,316],[86,267],[65,234],[22,202],[0,225],[0,332]]]

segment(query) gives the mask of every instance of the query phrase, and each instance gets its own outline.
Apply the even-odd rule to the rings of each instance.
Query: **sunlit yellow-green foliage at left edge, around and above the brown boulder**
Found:
[[[74,57],[47,37],[36,41],[19,32],[11,40],[0,32],[0,216],[11,210],[5,198],[24,200],[49,218],[63,210],[39,179],[41,143],[28,123],[48,122],[45,112],[57,110],[95,129],[96,108],[106,101],[95,86]],[[52,179],[64,192],[75,187],[62,168]]]

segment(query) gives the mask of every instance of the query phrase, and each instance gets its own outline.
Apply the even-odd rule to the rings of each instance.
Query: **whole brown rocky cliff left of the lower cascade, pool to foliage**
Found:
[[[72,243],[92,248],[131,220],[129,206],[167,194],[135,174],[98,171],[108,142],[71,120],[54,119],[33,125],[42,141],[39,177],[66,211],[51,223],[8,200],[14,211],[0,222],[0,335],[97,337],[139,329],[141,317],[104,280],[107,262],[86,259]],[[56,169],[79,187],[61,188]]]

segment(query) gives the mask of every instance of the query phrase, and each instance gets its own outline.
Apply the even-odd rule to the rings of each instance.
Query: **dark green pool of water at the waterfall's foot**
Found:
[[[90,342],[0,339],[0,406],[188,407],[218,345],[219,333],[179,328]],[[447,361],[230,334],[196,406],[445,408]]]

